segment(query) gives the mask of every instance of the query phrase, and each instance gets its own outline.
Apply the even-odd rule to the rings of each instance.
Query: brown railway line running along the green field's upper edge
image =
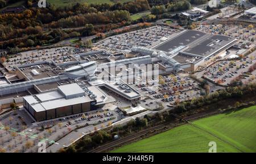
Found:
[[[195,119],[199,119],[201,117],[205,117],[205,116],[209,116],[209,115],[214,115],[214,114],[217,114],[217,113],[220,113],[220,111],[217,110],[217,111],[210,111],[210,112],[204,112],[204,113],[197,113],[195,115],[187,116],[187,117],[180,117],[180,116],[177,116],[175,114],[173,114],[173,115],[176,116],[177,118],[182,119],[185,122],[189,123],[189,120],[195,120]],[[179,123],[179,120],[174,121],[173,123]],[[170,125],[173,125],[173,124],[164,123],[164,124],[156,125],[155,127],[144,129],[144,130],[142,130],[140,132],[137,132],[137,133],[131,134],[129,136],[120,138],[119,140],[115,140],[115,141],[109,142],[109,143],[107,143],[105,145],[98,146],[95,149],[89,150],[88,153],[106,152],[106,151],[108,151],[110,149],[113,149],[113,148],[115,148],[117,146],[126,144],[127,142],[130,142],[130,141],[133,141],[133,140],[137,140],[139,137],[142,137],[142,136],[144,136],[147,133],[152,133],[152,131],[160,131],[163,128],[166,128],[165,130],[167,131],[167,130],[172,128],[172,126],[170,126]]]

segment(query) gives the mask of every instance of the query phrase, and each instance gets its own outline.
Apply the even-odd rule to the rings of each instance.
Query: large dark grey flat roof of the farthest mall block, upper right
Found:
[[[196,30],[185,30],[164,43],[159,44],[154,49],[171,54],[185,52],[191,56],[207,57],[225,48],[229,48],[235,40],[235,38],[229,36],[212,35]]]

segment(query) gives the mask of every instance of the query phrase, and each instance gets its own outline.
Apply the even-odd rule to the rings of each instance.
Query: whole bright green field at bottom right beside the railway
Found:
[[[222,113],[181,125],[112,152],[256,152],[256,106]]]

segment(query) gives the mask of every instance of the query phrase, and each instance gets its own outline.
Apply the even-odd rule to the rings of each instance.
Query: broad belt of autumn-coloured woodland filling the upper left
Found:
[[[52,44],[68,37],[106,32],[129,25],[130,12],[150,10],[147,0],[114,5],[77,3],[58,9],[51,4],[47,8],[33,7],[37,2],[28,0],[28,9],[21,13],[0,14],[0,48],[17,52],[20,48]],[[76,27],[81,28],[63,29]]]

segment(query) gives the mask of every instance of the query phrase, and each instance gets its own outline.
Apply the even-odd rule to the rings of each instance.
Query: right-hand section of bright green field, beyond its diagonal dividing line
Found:
[[[194,124],[243,152],[256,152],[256,106],[200,119]]]

